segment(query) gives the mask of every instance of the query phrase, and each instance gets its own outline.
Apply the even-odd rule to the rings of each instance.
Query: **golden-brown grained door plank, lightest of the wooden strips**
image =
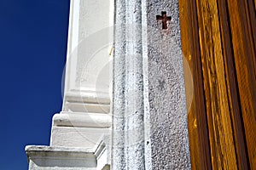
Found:
[[[213,169],[236,169],[216,0],[196,1]]]

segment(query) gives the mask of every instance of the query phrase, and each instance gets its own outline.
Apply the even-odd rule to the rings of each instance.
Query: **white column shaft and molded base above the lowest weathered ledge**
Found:
[[[63,106],[52,146],[95,147],[111,126],[113,0],[72,0]]]

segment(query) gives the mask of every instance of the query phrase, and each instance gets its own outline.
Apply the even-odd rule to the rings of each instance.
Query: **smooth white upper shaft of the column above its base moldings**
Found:
[[[65,92],[108,94],[113,0],[74,0],[72,5]]]

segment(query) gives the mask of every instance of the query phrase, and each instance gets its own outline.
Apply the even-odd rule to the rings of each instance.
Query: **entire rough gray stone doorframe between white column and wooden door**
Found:
[[[112,169],[189,169],[178,2],[117,0]],[[172,16],[168,30],[156,15]]]

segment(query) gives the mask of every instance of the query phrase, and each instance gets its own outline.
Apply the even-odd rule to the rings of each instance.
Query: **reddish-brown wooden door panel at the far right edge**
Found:
[[[256,61],[255,61],[255,10],[253,2],[228,0],[230,28],[236,64],[241,111],[245,128],[248,157],[256,169]]]

